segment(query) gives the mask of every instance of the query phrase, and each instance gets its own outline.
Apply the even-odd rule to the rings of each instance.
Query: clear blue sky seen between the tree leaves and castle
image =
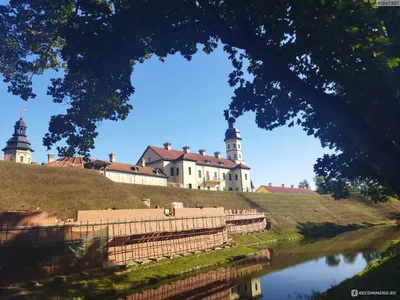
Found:
[[[138,65],[132,75],[136,89],[131,97],[133,110],[125,121],[106,121],[99,128],[96,149],[92,157],[106,159],[115,152],[117,161],[136,163],[146,146],[162,146],[171,142],[173,149],[191,146],[208,154],[225,150],[224,133],[227,123],[223,110],[230,103],[233,89],[229,87],[230,61],[222,48],[213,54],[198,53],[191,62],[179,55],[161,63],[154,58]],[[13,125],[27,108],[24,119],[28,125],[28,138],[35,149],[34,161],[47,160],[42,137],[47,131],[51,115],[66,107],[53,104],[46,95],[49,79],[56,72],[49,71],[34,78],[36,99],[25,102],[7,92],[0,83],[0,144],[5,146],[13,132]],[[0,76],[1,77],[1,76]],[[300,127],[282,127],[274,131],[260,129],[254,114],[247,113],[236,122],[243,138],[243,158],[251,167],[254,185],[272,182],[273,185],[297,185],[302,179],[313,184],[313,164],[328,149],[307,136]],[[2,149],[2,148],[1,148]],[[226,157],[226,154],[225,154]]]

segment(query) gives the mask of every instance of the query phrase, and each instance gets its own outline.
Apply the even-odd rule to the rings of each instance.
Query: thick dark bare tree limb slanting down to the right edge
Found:
[[[262,37],[254,33],[247,20],[236,18],[239,24],[235,24],[238,26],[232,29],[220,18],[215,7],[207,1],[200,2],[206,11],[205,24],[224,44],[243,49],[251,58],[261,61],[271,77],[301,96],[327,122],[334,122],[340,126],[379,166],[379,169],[376,169],[378,175],[385,177],[392,188],[398,186],[400,149],[392,141],[385,139],[369,126],[342,98],[316,89],[290,71],[289,63],[276,49],[268,46]],[[235,16],[240,14],[243,14],[243,11],[235,13]]]

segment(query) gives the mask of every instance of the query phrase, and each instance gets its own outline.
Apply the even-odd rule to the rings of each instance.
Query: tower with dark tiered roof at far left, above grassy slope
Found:
[[[7,141],[7,146],[2,150],[4,156],[18,163],[30,164],[32,162],[31,143],[26,138],[26,123],[22,117],[14,125],[14,134]]]

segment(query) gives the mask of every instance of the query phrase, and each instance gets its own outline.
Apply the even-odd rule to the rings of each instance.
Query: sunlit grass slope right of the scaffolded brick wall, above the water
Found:
[[[313,229],[315,233],[319,229],[323,233],[340,229],[337,228],[340,226],[346,231],[349,225],[398,219],[400,216],[400,201],[371,203],[359,194],[339,201],[327,195],[248,193],[246,197],[256,206],[265,209],[277,222],[278,228],[288,231],[297,229],[305,234],[308,229]]]

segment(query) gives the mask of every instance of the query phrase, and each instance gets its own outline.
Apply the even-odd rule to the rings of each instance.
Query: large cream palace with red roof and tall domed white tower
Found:
[[[148,146],[140,162],[162,170],[168,175],[168,184],[189,189],[229,190],[251,192],[250,168],[245,165],[242,155],[242,138],[235,128],[233,119],[229,120],[229,128],[225,132],[227,158],[221,152],[214,156],[206,155],[206,150],[191,153],[190,147],[180,150],[171,149],[171,143],[164,147]]]

